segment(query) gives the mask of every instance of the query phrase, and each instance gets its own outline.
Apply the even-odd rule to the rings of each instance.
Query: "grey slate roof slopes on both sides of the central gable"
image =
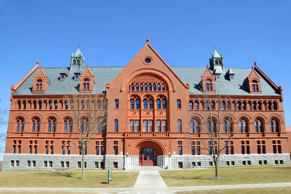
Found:
[[[95,86],[92,94],[102,94],[106,91],[106,83],[111,83],[124,67],[89,67],[92,74],[95,75]],[[66,68],[69,70],[69,68]],[[81,67],[84,72],[86,67]],[[190,94],[202,94],[199,90],[201,75],[204,74],[206,67],[172,67],[174,72],[186,84],[190,85]],[[43,68],[45,74],[50,80],[50,85],[43,94],[32,94],[33,76],[39,71],[36,69],[14,92],[13,95],[65,95],[73,94],[77,91],[80,81],[74,81],[75,71],[70,71],[64,81],[60,81],[60,73],[64,73],[64,68]],[[229,68],[225,68],[228,72]],[[235,80],[229,81],[227,73],[222,72],[220,81],[216,81],[216,88],[223,84],[224,92],[227,95],[251,95],[245,87],[245,79],[250,74],[251,69],[232,68],[235,72]],[[212,72],[212,71],[211,71]],[[258,73],[258,72],[257,72]],[[259,75],[259,73],[258,73]],[[262,96],[280,96],[279,93],[261,77]],[[258,94],[256,94],[258,95]]]

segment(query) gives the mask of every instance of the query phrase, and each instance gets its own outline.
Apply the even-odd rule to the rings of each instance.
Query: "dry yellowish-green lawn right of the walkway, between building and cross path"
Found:
[[[160,171],[168,187],[229,184],[291,182],[291,166],[225,167],[220,177],[228,180],[208,180],[215,177],[215,169]]]

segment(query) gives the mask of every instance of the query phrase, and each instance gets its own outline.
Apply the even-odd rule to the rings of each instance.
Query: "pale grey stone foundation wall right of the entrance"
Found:
[[[172,167],[178,168],[178,162],[183,162],[182,165],[192,164],[192,162],[200,162],[201,167],[210,167],[210,162],[213,162],[212,157],[208,155],[172,155]],[[221,155],[219,166],[228,166],[226,162],[229,162],[229,166],[231,166],[231,162],[234,162],[235,166],[244,165],[245,161],[246,165],[260,165],[264,164],[264,161],[267,162],[268,165],[280,164],[291,164],[290,154],[234,154],[234,155]],[[249,163],[249,164],[248,164]],[[214,166],[214,163],[213,163]]]

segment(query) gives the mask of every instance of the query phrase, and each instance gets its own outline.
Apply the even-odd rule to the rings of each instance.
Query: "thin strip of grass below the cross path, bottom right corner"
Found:
[[[176,194],[290,194],[291,187],[183,191]]]

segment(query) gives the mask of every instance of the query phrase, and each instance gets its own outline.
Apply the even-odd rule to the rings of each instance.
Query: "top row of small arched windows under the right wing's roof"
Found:
[[[219,107],[218,107],[219,106]],[[278,102],[256,101],[256,100],[222,100],[219,104],[215,100],[197,100],[190,99],[188,103],[189,110],[248,110],[248,111],[277,111]]]

